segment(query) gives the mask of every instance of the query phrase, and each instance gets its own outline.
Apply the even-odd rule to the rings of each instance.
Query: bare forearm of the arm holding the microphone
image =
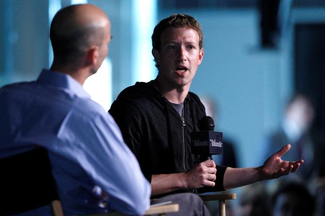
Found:
[[[151,177],[151,196],[187,188],[186,173],[157,174]]]

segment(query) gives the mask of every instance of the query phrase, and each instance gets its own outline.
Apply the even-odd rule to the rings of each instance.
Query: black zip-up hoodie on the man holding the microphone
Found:
[[[191,154],[191,132],[199,131],[199,121],[206,114],[194,93],[189,92],[184,101],[185,124],[172,104],[153,86],[153,81],[137,82],[124,89],[109,113],[148,181],[152,174],[183,173],[199,162],[199,156]],[[216,186],[199,192],[224,190],[225,170],[226,167],[217,166]]]

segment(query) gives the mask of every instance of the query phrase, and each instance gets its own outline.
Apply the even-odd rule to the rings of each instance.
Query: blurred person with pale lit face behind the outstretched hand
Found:
[[[309,98],[304,95],[295,95],[285,108],[281,127],[267,137],[266,141],[265,155],[274,152],[284,143],[292,145],[292,151],[283,158],[286,160],[304,159],[304,166],[301,167],[299,173],[296,173],[300,179],[308,179],[315,169],[314,145],[310,135],[313,119],[314,107]]]

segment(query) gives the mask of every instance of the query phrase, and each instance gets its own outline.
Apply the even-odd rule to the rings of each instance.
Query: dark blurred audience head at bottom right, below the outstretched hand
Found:
[[[273,216],[314,216],[315,200],[307,187],[297,183],[281,185],[272,196]]]

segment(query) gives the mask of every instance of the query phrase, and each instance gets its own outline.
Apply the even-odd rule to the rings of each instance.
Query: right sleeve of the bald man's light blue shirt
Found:
[[[89,118],[72,111],[67,117],[64,130],[74,149],[71,157],[108,194],[110,208],[143,215],[150,204],[150,184],[114,119],[103,113]]]

